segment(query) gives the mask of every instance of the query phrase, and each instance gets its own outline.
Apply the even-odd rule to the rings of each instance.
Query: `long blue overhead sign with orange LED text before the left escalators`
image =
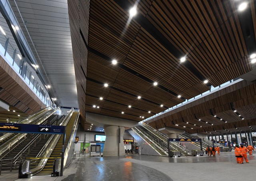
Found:
[[[63,134],[65,126],[0,123],[0,132],[8,133],[37,133],[37,134]]]

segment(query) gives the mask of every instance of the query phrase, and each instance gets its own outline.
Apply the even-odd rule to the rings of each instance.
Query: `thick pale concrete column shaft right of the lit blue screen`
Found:
[[[120,136],[119,136],[120,128]],[[106,140],[103,149],[104,157],[124,156],[124,127],[122,126],[108,126],[104,125],[104,132],[106,134]]]

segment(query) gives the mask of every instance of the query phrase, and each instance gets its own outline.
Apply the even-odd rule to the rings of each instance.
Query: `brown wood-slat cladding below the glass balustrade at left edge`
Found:
[[[0,99],[27,115],[45,108],[44,103],[2,57],[0,57],[0,75],[0,87],[2,88]]]

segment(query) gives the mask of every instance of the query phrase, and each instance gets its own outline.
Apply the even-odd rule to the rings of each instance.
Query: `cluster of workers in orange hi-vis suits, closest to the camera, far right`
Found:
[[[236,144],[235,148],[235,155],[236,155],[236,163],[244,163],[244,160],[246,163],[249,163],[247,159],[247,152],[249,152],[249,155],[252,155],[252,150],[254,150],[253,146],[244,146],[244,144],[240,144],[240,147],[238,144]]]

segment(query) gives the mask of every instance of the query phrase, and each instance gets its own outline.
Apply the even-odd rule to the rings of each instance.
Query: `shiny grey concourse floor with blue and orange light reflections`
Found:
[[[255,152],[255,151],[254,151]],[[62,177],[17,179],[17,171],[2,172],[0,181],[236,181],[256,177],[256,153],[248,155],[250,163],[237,164],[234,150],[216,157],[77,157]]]

